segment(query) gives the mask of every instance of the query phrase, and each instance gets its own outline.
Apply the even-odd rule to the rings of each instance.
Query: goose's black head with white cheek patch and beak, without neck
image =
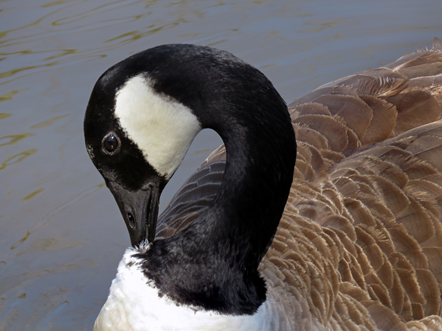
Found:
[[[163,79],[178,77],[156,77],[164,51],[142,52],[107,70],[95,84],[84,121],[86,148],[133,245],[153,241],[162,188],[201,129],[189,108],[162,91]],[[186,87],[186,79],[174,83]]]

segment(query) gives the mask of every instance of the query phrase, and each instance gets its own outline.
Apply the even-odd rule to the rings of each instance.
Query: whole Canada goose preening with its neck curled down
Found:
[[[158,46],[108,69],[86,147],[135,248],[94,330],[442,330],[441,72],[434,39],[287,112],[261,72],[213,48]],[[225,150],[156,226],[202,128]]]

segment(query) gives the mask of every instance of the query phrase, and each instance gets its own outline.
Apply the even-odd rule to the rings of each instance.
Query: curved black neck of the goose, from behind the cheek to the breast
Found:
[[[155,80],[159,92],[189,106],[204,128],[220,134],[227,163],[212,205],[188,228],[155,241],[140,257],[148,278],[178,303],[252,314],[265,301],[257,268],[287,202],[296,142],[278,92],[258,70],[233,59],[236,66],[218,63],[200,81],[193,72],[186,86],[175,76]],[[189,94],[199,98],[185,97]]]

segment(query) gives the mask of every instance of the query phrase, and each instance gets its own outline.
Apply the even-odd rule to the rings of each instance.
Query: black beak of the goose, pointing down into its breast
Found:
[[[127,190],[113,181],[108,181],[106,185],[123,215],[131,244],[135,247],[145,239],[153,243],[161,193],[159,183],[152,181],[137,191]]]

